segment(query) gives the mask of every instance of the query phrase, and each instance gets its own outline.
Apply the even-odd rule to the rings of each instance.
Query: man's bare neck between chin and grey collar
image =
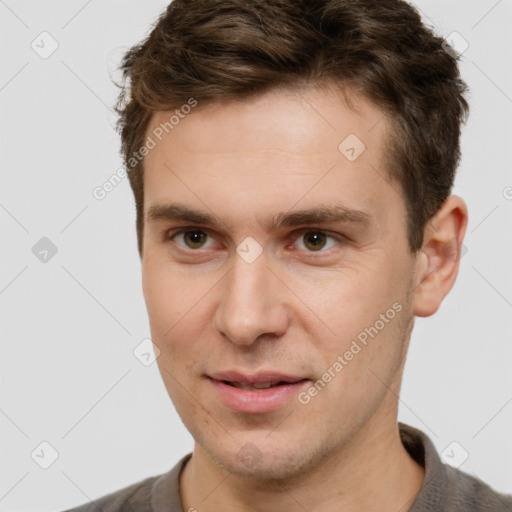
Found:
[[[277,483],[230,474],[196,444],[180,478],[183,509],[406,512],[425,471],[402,445],[396,416],[382,425],[374,417],[308,473]]]

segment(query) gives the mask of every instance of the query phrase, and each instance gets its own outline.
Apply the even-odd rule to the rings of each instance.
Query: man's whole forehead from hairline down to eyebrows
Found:
[[[274,90],[246,101],[198,102],[186,115],[189,109],[155,113],[145,210],[173,196],[226,215],[240,215],[241,205],[247,215],[273,215],[300,202],[382,217],[399,198],[386,180],[388,119],[364,98],[349,98],[350,106],[333,88]]]

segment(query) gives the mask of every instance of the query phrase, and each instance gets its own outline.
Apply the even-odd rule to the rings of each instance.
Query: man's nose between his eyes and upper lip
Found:
[[[216,329],[238,345],[282,336],[289,322],[285,293],[286,287],[267,266],[265,252],[252,263],[235,254],[223,280]]]

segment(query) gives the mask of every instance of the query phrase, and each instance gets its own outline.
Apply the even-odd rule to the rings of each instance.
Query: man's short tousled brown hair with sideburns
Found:
[[[143,159],[152,115],[271,89],[335,83],[388,114],[386,167],[401,185],[411,252],[451,192],[467,119],[458,57],[402,0],[174,0],[124,56],[121,152],[142,256]],[[341,142],[341,141],[340,141]]]

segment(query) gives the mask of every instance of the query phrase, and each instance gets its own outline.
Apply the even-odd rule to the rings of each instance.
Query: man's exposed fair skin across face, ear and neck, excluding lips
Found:
[[[414,315],[435,313],[455,281],[446,248],[460,250],[467,209],[450,196],[412,255],[400,187],[386,179],[390,125],[350,97],[355,111],[327,88],[199,104],[145,159],[144,296],[163,381],[195,439],[184,510],[408,510],[422,485],[398,436],[397,395]],[[155,114],[148,133],[168,117]],[[354,161],[338,150],[349,134],[366,146]],[[149,218],[176,203],[220,224]],[[268,225],[341,205],[371,222]],[[183,227],[188,236],[166,239]],[[263,249],[251,263],[236,251],[246,237]],[[393,304],[307,404],[236,412],[208,378],[273,370],[309,379],[307,391]]]

